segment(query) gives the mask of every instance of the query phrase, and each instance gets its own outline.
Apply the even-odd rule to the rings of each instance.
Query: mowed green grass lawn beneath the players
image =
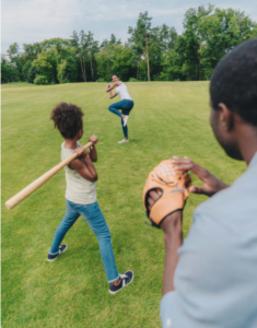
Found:
[[[209,82],[127,83],[135,99],[128,144],[120,121],[107,110],[103,83],[2,86],[2,327],[161,327],[163,233],[144,224],[142,190],[152,167],[173,155],[196,161],[225,183],[245,169],[230,160],[209,126]],[[117,97],[117,101],[119,98]],[[59,102],[84,112],[84,136],[97,134],[97,197],[109,225],[120,273],[132,284],[116,295],[108,284],[98,244],[80,218],[65,237],[68,250],[47,261],[65,206],[63,169],[13,210],[4,202],[60,162],[62,138],[49,120]],[[192,183],[199,184],[196,176]],[[191,195],[194,209],[207,198]]]

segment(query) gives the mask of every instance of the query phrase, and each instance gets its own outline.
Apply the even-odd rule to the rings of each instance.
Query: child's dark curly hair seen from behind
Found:
[[[73,104],[60,103],[51,110],[50,119],[65,139],[73,139],[83,128],[82,109]]]

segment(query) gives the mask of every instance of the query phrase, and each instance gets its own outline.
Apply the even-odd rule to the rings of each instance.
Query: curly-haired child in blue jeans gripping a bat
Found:
[[[98,239],[100,253],[109,283],[109,293],[115,294],[132,282],[133,272],[127,271],[125,274],[119,274],[116,268],[109,229],[96,201],[97,173],[93,162],[97,161],[95,143],[98,139],[96,136],[90,138],[93,143],[90,151],[79,143],[83,136],[83,115],[80,107],[66,103],[58,104],[51,112],[50,118],[54,120],[55,128],[58,128],[65,138],[61,144],[61,160],[66,160],[74,152],[78,157],[65,167],[66,214],[56,230],[47,259],[54,261],[67,250],[68,245],[60,244],[69,229],[81,215]]]

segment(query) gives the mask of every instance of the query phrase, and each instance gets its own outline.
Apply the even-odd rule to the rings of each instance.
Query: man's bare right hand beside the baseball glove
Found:
[[[229,185],[219,180],[209,171],[197,165],[195,162],[192,162],[188,157],[179,159],[177,156],[173,156],[172,163],[176,164],[174,169],[191,171],[202,181],[202,184],[203,184],[202,187],[191,186],[189,188],[189,191],[192,194],[201,194],[201,195],[207,195],[210,197],[210,196],[214,195],[215,192],[229,187]]]

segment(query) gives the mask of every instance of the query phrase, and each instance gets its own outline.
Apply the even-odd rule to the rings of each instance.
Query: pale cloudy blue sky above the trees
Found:
[[[244,11],[257,22],[256,0],[210,0],[215,7]],[[73,31],[91,31],[102,42],[115,34],[128,39],[128,26],[136,26],[140,12],[148,11],[152,26],[167,24],[180,34],[189,8],[206,4],[200,0],[2,0],[1,54],[9,46],[69,38]]]

